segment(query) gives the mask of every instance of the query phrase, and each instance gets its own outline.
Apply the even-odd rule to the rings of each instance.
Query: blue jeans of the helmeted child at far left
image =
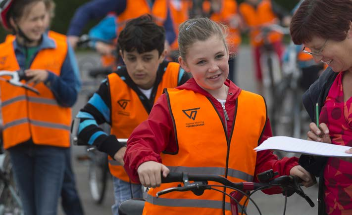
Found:
[[[67,150],[35,144],[8,150],[25,215],[56,215]]]

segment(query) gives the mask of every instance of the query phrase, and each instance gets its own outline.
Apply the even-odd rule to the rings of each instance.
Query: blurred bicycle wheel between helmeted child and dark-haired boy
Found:
[[[89,188],[91,196],[97,205],[105,198],[108,179],[108,161],[106,154],[97,150],[89,152]]]

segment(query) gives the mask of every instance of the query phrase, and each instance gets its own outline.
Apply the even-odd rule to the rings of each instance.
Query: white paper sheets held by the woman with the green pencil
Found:
[[[350,148],[349,146],[321,143],[288,136],[273,136],[265,140],[254,150],[261,151],[271,149],[326,157],[352,157],[352,154],[345,152]]]

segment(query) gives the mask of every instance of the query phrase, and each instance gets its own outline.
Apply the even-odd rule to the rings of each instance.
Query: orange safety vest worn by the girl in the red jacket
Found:
[[[237,112],[230,137],[210,100],[201,93],[186,89],[167,89],[178,152],[161,154],[162,163],[170,172],[217,174],[233,182],[252,181],[256,152],[253,150],[261,137],[266,122],[264,99],[242,90],[237,99]],[[248,129],[251,128],[251,129]],[[229,146],[229,147],[228,147]],[[228,164],[228,168],[226,168]],[[148,192],[144,215],[231,214],[229,197],[205,190],[196,196],[191,191],[171,192],[156,198],[156,193],[179,183],[165,183]],[[209,184],[218,184],[210,182]],[[227,193],[232,190],[226,189]],[[244,204],[244,199],[242,200]]]

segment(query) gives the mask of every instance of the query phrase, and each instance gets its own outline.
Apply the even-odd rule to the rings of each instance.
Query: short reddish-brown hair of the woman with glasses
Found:
[[[343,41],[351,20],[352,0],[304,0],[292,17],[290,34],[295,44],[312,37]]]

